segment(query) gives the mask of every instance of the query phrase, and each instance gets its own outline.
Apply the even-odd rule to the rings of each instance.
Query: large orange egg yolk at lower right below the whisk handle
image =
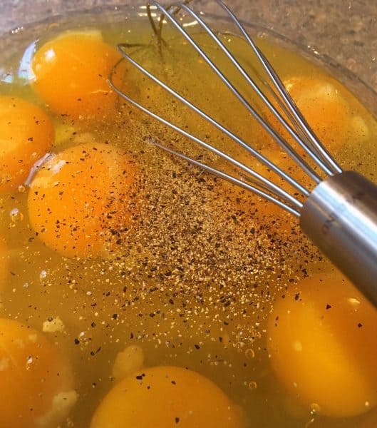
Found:
[[[306,406],[351,417],[377,404],[377,310],[341,275],[302,280],[269,317],[272,367]]]

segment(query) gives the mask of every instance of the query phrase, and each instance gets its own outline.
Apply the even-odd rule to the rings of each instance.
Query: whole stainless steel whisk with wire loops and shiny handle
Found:
[[[140,65],[138,61],[135,61],[135,59],[126,52],[128,46],[125,44],[118,45],[123,60],[129,61],[133,66],[138,68],[140,72],[144,73],[145,76],[148,76],[148,78],[152,79],[157,85],[164,88],[167,93],[177,98],[177,100],[185,106],[192,108],[195,113],[206,121],[209,121],[217,130],[222,131],[227,137],[247,150],[257,161],[265,165],[269,170],[274,171],[274,173],[279,175],[296,190],[295,195],[291,195],[268,178],[259,174],[253,168],[249,168],[247,165],[244,165],[244,163],[237,161],[237,159],[229,156],[212,144],[176,126],[171,121],[159,116],[157,113],[128,96],[114,82],[114,74],[119,64],[115,66],[109,78],[113,90],[133,104],[133,106],[140,108],[140,110],[148,113],[148,115],[157,119],[157,121],[172,128],[182,136],[189,138],[197,145],[202,146],[202,148],[215,153],[217,156],[220,156],[230,163],[234,168],[238,168],[238,170],[242,171],[243,176],[237,177],[232,175],[232,173],[220,170],[220,168],[214,168],[211,165],[191,158],[185,155],[185,153],[172,150],[172,148],[164,146],[157,141],[154,142],[156,146],[165,151],[179,156],[220,178],[228,180],[230,183],[234,183],[235,185],[239,185],[246,190],[256,193],[298,217],[303,232],[337,267],[339,267],[341,271],[344,272],[346,276],[349,277],[364,295],[377,306],[377,186],[359,173],[343,171],[340,168],[338,163],[331,157],[324,145],[311,130],[276,71],[272,68],[271,63],[269,63],[262,51],[260,51],[254,43],[252,37],[249,36],[246,29],[244,29],[244,26],[242,26],[237,17],[234,16],[233,12],[222,0],[217,0],[217,4],[226,12],[235,26],[237,26],[242,38],[246,41],[249,49],[251,49],[251,54],[257,58],[265,73],[267,73],[269,86],[274,91],[274,100],[277,101],[277,103],[272,102],[269,97],[264,94],[260,88],[261,83],[259,82],[258,85],[254,81],[249,73],[245,71],[237,57],[225,46],[220,34],[212,30],[203,19],[202,14],[193,10],[188,3],[190,3],[190,0],[177,2],[168,7],[164,7],[158,1],[150,1],[148,10],[153,6],[154,9],[161,13],[158,26],[153,19],[151,19],[153,30],[155,34],[157,34],[159,40],[162,40],[162,20],[165,19],[180,32],[187,43],[190,44],[202,60],[210,66],[212,71],[222,80],[229,91],[238,98],[242,106],[244,106],[244,108],[257,120],[259,125],[272,136],[274,141],[276,141],[284,152],[301,167],[306,175],[308,175],[311,180],[314,180],[316,184],[314,190],[310,192],[297,180],[294,180],[294,178],[291,178],[289,174],[279,168],[278,165],[269,161],[262,153],[259,153],[259,151],[252,148],[252,146],[249,146],[248,143],[243,141],[242,138],[239,138],[235,133],[229,131],[222,123],[212,118],[205,113],[205,111],[202,111],[180,93],[177,93],[164,81],[161,81],[160,78],[153,75],[153,73],[150,73],[150,71]],[[217,49],[229,59],[232,66],[237,69],[242,78],[244,78],[247,84],[254,90],[264,105],[267,106],[274,118],[276,118],[278,123],[280,123],[289,134],[290,138],[299,145],[307,156],[309,156],[311,163],[314,163],[316,167],[318,167],[316,169],[321,170],[322,173],[326,175],[326,178],[321,178],[319,173],[306,162],[304,157],[294,150],[291,143],[286,141],[286,138],[282,135],[279,135],[274,129],[274,126],[262,117],[261,114],[257,112],[257,109],[237,90],[236,86],[224,76],[220,68],[218,68],[210,56],[206,54],[205,49],[202,49],[202,47],[197,44],[197,41],[192,37],[190,31],[187,31],[185,26],[182,25],[182,21],[178,16],[179,11],[184,11],[185,14],[195,19],[196,24],[210,37],[217,46]],[[279,105],[280,111],[279,108],[276,107],[277,104]],[[288,118],[288,121],[286,118]],[[247,179],[244,179],[245,176]],[[301,200],[297,198],[297,194],[304,197],[304,202],[301,202]]]

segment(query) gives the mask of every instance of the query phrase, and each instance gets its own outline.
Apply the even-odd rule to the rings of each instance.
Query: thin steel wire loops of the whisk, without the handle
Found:
[[[308,155],[312,158],[314,163],[316,165],[319,165],[319,167],[324,170],[326,174],[331,175],[331,170],[326,165],[325,161],[322,161],[321,156],[319,156],[318,153],[316,153],[316,148],[314,147],[314,144],[311,143],[311,141],[307,138],[306,135],[306,128],[304,126],[301,126],[299,121],[296,121],[295,115],[292,112],[298,111],[296,108],[296,105],[291,100],[289,93],[286,92],[282,81],[280,81],[277,74],[274,72],[272,66],[269,64],[266,58],[264,58],[262,52],[259,51],[257,46],[254,44],[254,41],[248,36],[247,32],[244,30],[244,27],[240,22],[235,18],[234,14],[227,8],[227,6],[224,4],[222,0],[217,0],[217,4],[222,6],[222,8],[227,11],[227,14],[229,17],[234,21],[234,23],[237,25],[239,30],[241,31],[242,35],[244,36],[244,39],[249,43],[249,46],[252,47],[252,50],[255,54],[257,54],[257,57],[259,58],[259,61],[261,61],[262,65],[264,66],[264,69],[267,71],[267,74],[271,77],[272,83],[274,88],[277,88],[277,91],[280,93],[279,88],[282,87],[282,92],[284,95],[288,96],[290,99],[289,102],[284,102],[285,98],[284,95],[279,97],[279,93],[277,93],[274,88],[272,88],[267,82],[263,81],[261,76],[259,77],[259,80],[264,83],[269,91],[272,93],[272,96],[274,97],[275,101],[277,101],[277,104],[282,109],[284,115],[286,118],[291,121],[291,124],[286,122],[286,119],[282,116],[282,114],[275,108],[273,103],[270,101],[270,99],[265,95],[265,93],[259,88],[258,84],[253,80],[253,78],[245,71],[245,69],[242,67],[242,65],[237,61],[237,58],[234,57],[234,55],[227,49],[227,46],[225,46],[224,42],[220,39],[220,36],[215,34],[215,31],[212,31],[210,26],[206,24],[206,22],[200,17],[199,14],[197,14],[193,9],[191,9],[187,4],[190,3],[190,0],[180,1],[176,2],[174,4],[170,4],[170,6],[167,6],[166,8],[160,4],[157,0],[150,0],[149,7],[153,6],[155,9],[159,10],[161,12],[160,19],[159,19],[159,26],[157,27],[156,24],[153,25],[153,31],[157,35],[157,37],[160,39],[162,38],[161,32],[162,32],[162,20],[167,19],[167,21],[170,21],[172,26],[177,29],[180,34],[185,38],[186,41],[189,42],[189,44],[192,46],[192,48],[197,51],[197,54],[200,55],[200,57],[207,63],[208,66],[212,69],[212,71],[215,72],[215,74],[221,79],[221,81],[224,83],[224,85],[234,94],[234,96],[237,97],[237,99],[240,101],[242,106],[247,109],[247,111],[252,114],[252,116],[256,119],[256,121],[264,128],[267,133],[269,133],[270,136],[276,141],[279,146],[284,150],[285,153],[287,153],[296,164],[298,164],[302,170],[306,173],[306,175],[311,178],[311,180],[318,185],[321,183],[321,177],[316,173],[316,171],[309,165],[304,158],[302,158],[299,153],[295,151],[295,149],[291,146],[289,142],[286,141],[285,138],[279,135],[279,133],[276,131],[274,126],[272,126],[271,123],[269,123],[261,114],[258,113],[258,111],[247,101],[247,99],[242,95],[242,93],[239,92],[239,90],[234,86],[234,84],[229,81],[229,79],[224,75],[222,70],[217,67],[217,65],[212,61],[210,56],[205,52],[204,49],[201,48],[199,44],[197,44],[197,41],[189,34],[189,32],[182,26],[182,23],[180,22],[180,19],[177,17],[177,14],[180,10],[185,11],[186,14],[192,16],[197,24],[199,24],[202,29],[205,31],[206,34],[210,36],[212,41],[215,41],[215,44],[217,47],[222,51],[222,53],[231,61],[233,66],[237,68],[237,71],[241,73],[242,77],[246,80],[246,82],[249,84],[249,86],[252,87],[253,91],[257,93],[257,96],[262,100],[264,105],[269,108],[269,111],[272,111],[274,116],[277,118],[279,123],[284,126],[286,131],[288,131],[291,138],[296,141],[296,143],[301,146],[301,148],[308,153]],[[153,19],[150,16],[150,19]],[[166,43],[164,41],[165,46]],[[160,49],[162,48],[160,42],[159,42]],[[125,52],[126,48],[129,48],[127,44],[118,44],[118,50],[123,56],[123,59],[129,61],[135,68],[138,68],[138,70],[143,73],[145,76],[148,76],[152,81],[154,81],[158,86],[162,87],[165,91],[170,93],[170,95],[177,98],[181,103],[183,103],[188,108],[191,108],[192,111],[195,111],[199,116],[204,118],[207,122],[211,123],[212,126],[215,126],[218,130],[222,131],[226,136],[232,139],[235,143],[237,143],[239,146],[247,150],[249,154],[254,156],[254,158],[257,159],[257,161],[261,162],[263,165],[267,166],[269,170],[271,170],[273,173],[276,173],[279,175],[280,178],[285,180],[289,185],[291,185],[293,188],[298,190],[299,194],[307,198],[310,195],[310,191],[304,187],[304,185],[301,185],[297,180],[291,177],[288,173],[286,173],[282,168],[279,168],[278,165],[276,165],[274,162],[269,161],[268,158],[262,155],[262,153],[259,153],[259,151],[255,150],[252,146],[250,146],[248,143],[246,143],[242,138],[239,138],[234,132],[230,131],[228,128],[223,126],[219,121],[215,120],[215,118],[212,118],[209,114],[205,113],[205,111],[202,111],[198,106],[195,106],[194,103],[190,102],[187,98],[182,96],[180,93],[177,93],[173,88],[168,86],[164,81],[160,80],[155,76],[153,73],[148,71],[145,67],[143,67],[138,61],[135,61],[134,58],[132,58],[128,53]],[[131,99],[129,96],[127,96],[123,91],[118,88],[114,81],[113,81],[113,75],[116,68],[118,68],[119,63],[115,66],[112,73],[110,73],[110,85],[113,87],[114,91],[117,92],[120,96],[125,98],[127,101],[133,104],[133,106],[136,106],[137,108],[140,108],[140,110],[144,111],[148,115],[152,116],[153,118],[157,119],[157,121],[160,121],[160,123],[163,123],[164,125],[169,126],[177,133],[180,133],[182,136],[185,136],[187,138],[190,138],[191,141],[194,141],[198,145],[202,146],[203,148],[206,148],[207,150],[211,151],[212,153],[215,153],[217,156],[220,156],[222,159],[227,161],[227,163],[230,163],[233,167],[237,168],[238,170],[242,171],[242,175],[237,178],[234,177],[234,175],[230,175],[229,173],[226,173],[218,168],[213,168],[212,166],[207,166],[201,163],[200,161],[196,161],[193,158],[190,158],[189,156],[180,153],[178,151],[174,151],[171,148],[168,148],[165,145],[162,145],[161,143],[155,143],[156,146],[164,149],[165,151],[169,153],[174,153],[177,156],[180,156],[180,158],[184,158],[186,161],[189,161],[191,163],[194,163],[195,165],[200,165],[201,168],[204,168],[205,170],[208,170],[212,173],[215,173],[217,176],[221,176],[222,178],[225,178],[228,181],[231,181],[232,183],[244,183],[244,180],[248,180],[249,183],[245,185],[242,185],[243,188],[247,188],[247,190],[252,190],[254,193],[257,193],[258,195],[263,195],[264,198],[267,198],[267,200],[271,200],[272,202],[276,203],[277,205],[281,206],[282,208],[288,210],[290,213],[293,213],[294,215],[299,215],[300,210],[303,206],[301,203],[301,200],[299,200],[296,196],[298,196],[298,193],[295,193],[295,195],[289,194],[286,190],[283,190],[279,185],[276,185],[272,180],[269,180],[269,178],[265,178],[262,174],[258,173],[253,168],[249,168],[247,165],[244,165],[244,163],[241,163],[237,161],[236,159],[232,158],[232,156],[229,156],[227,153],[224,153],[224,151],[221,151],[220,149],[216,148],[215,146],[212,146],[209,143],[206,143],[201,138],[197,138],[197,136],[193,135],[192,133],[189,133],[185,131],[184,129],[180,128],[179,126],[176,126],[171,121],[167,121],[166,118],[163,118],[162,116],[159,116],[157,113],[154,113],[149,108],[146,108],[145,106],[142,106],[138,101],[135,101],[134,99]],[[293,128],[291,127],[293,126]],[[256,187],[257,186],[257,187]],[[258,189],[258,190],[257,190]],[[256,191],[257,190],[257,191]]]

